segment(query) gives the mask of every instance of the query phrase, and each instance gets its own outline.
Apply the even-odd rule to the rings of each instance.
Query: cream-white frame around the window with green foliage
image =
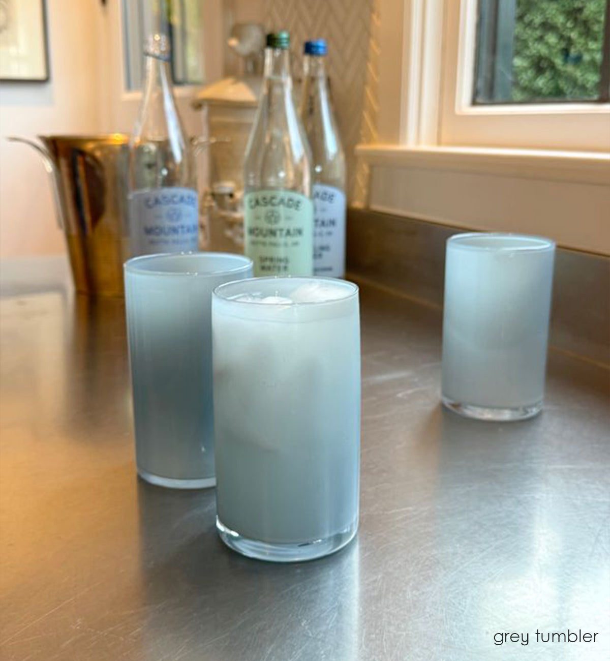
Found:
[[[478,0],[380,0],[379,139],[610,152],[610,104],[473,105]]]

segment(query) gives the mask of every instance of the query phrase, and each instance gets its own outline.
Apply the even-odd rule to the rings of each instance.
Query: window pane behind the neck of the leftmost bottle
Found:
[[[204,81],[204,44],[200,0],[123,0],[125,80],[129,90],[141,89],[144,77],[142,47],[159,14],[169,16],[171,69],[174,85],[198,85]]]

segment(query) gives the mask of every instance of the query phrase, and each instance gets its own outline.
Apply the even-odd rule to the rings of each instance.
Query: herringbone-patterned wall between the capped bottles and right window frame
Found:
[[[264,0],[268,30],[289,30],[301,72],[303,42],[328,41],[328,75],[348,162],[348,197],[354,206],[367,199],[368,168],[354,157],[359,142],[377,139],[377,54],[379,0]]]

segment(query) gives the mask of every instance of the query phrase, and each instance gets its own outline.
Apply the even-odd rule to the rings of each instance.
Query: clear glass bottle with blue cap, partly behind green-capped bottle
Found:
[[[299,114],[313,161],[313,268],[320,276],[345,275],[345,155],[328,93],[326,42],[305,42]]]

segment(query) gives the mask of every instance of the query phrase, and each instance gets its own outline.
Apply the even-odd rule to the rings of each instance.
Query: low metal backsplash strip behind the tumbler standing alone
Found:
[[[350,209],[350,275],[441,307],[445,243],[468,231],[391,214]],[[553,346],[610,365],[610,258],[558,248],[553,282]]]

